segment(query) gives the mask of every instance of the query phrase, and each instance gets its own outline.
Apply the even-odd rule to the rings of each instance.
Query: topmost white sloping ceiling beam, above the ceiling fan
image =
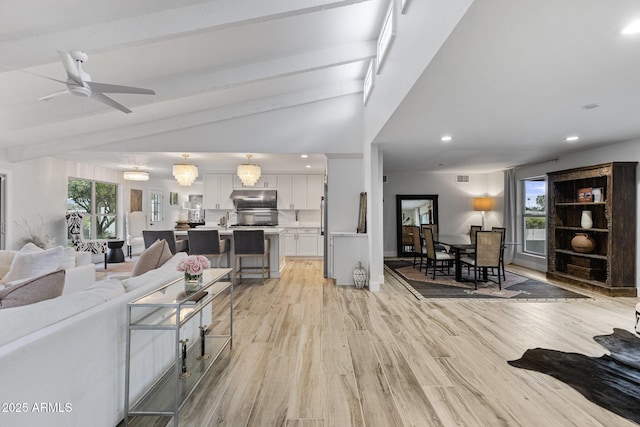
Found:
[[[38,36],[5,35],[9,39],[0,42],[0,58],[4,65],[26,68],[58,61],[56,51],[60,49],[90,48],[93,53],[99,53],[200,31],[266,22],[368,1],[372,0],[255,0],[250,5],[237,0],[209,1]],[[105,37],[105,34],[109,34],[109,37]],[[2,71],[5,70],[0,68]]]

